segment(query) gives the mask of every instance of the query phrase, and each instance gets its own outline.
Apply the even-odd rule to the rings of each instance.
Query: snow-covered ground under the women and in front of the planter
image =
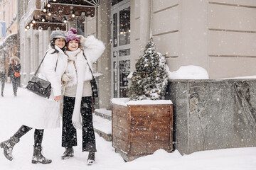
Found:
[[[22,113],[19,111],[28,93],[25,89],[18,89],[18,96],[14,98],[11,84],[6,84],[4,98],[0,97],[0,141],[6,140],[21,126]],[[31,109],[33,103],[31,103]],[[206,152],[195,152],[181,156],[177,151],[167,153],[159,149],[154,154],[141,157],[132,162],[124,162],[119,154],[114,152],[111,142],[106,142],[96,134],[97,153],[96,162],[92,166],[86,165],[87,153],[81,152],[81,131],[78,130],[78,147],[75,147],[75,157],[61,160],[61,128],[45,130],[43,139],[43,153],[53,159],[51,164],[31,164],[33,154],[33,130],[21,138],[14,147],[14,160],[10,162],[4,157],[0,149],[1,170],[255,170],[256,147],[220,149]]]

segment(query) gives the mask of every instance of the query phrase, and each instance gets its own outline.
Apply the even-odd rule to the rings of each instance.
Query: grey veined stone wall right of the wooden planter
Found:
[[[256,79],[171,80],[174,149],[256,146]]]

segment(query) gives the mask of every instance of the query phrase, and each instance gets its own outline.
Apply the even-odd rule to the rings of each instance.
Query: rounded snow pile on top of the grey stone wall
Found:
[[[175,72],[170,72],[169,68],[167,68],[167,71],[169,79],[209,79],[206,69],[199,66],[181,66]]]

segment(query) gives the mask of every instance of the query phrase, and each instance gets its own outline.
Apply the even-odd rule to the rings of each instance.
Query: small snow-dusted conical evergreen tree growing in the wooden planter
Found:
[[[159,100],[166,93],[168,75],[165,56],[155,52],[155,44],[151,38],[144,54],[136,63],[136,71],[132,74],[132,85],[129,88],[129,100]]]

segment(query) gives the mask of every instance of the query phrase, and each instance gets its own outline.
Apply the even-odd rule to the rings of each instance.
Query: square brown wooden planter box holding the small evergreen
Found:
[[[157,149],[167,152],[173,149],[171,101],[138,103],[128,102],[125,106],[112,100],[112,146],[127,162],[153,154]]]

